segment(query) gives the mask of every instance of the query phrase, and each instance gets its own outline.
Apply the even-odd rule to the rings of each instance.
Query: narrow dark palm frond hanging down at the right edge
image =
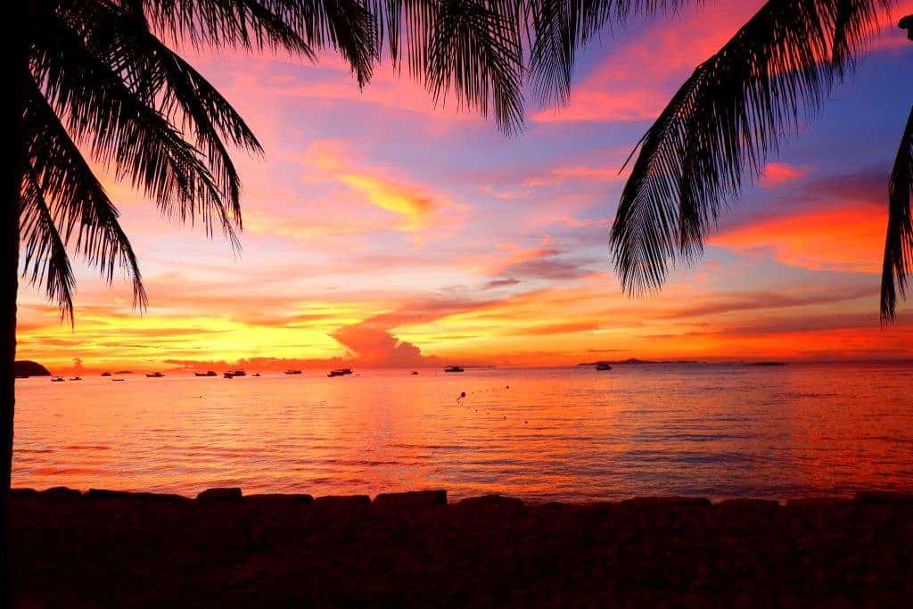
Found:
[[[894,171],[888,186],[887,238],[885,263],[881,274],[881,320],[894,320],[897,313],[897,293],[907,295],[907,277],[913,273],[913,213],[910,195],[913,193],[913,108],[907,128],[900,139]]]

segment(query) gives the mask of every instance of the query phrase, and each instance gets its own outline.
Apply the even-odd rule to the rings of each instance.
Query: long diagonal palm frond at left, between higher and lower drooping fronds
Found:
[[[142,187],[166,215],[191,222],[199,216],[207,234],[217,224],[238,247],[233,223],[239,218],[226,205],[226,193],[200,151],[135,94],[142,86],[128,87],[57,16],[42,24],[34,49],[36,80],[76,142],[118,178]]]

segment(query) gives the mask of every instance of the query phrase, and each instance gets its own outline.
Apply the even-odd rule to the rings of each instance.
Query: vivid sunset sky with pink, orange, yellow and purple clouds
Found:
[[[913,100],[913,47],[893,23],[701,260],[658,294],[621,293],[607,241],[624,160],[761,4],[606,33],[569,103],[530,101],[509,138],[389,68],[359,90],[332,56],[187,53],[266,149],[235,154],[243,250],[106,176],[149,307],[77,265],[72,327],[20,290],[18,358],[62,372],[913,357],[913,301],[878,322],[887,176]]]

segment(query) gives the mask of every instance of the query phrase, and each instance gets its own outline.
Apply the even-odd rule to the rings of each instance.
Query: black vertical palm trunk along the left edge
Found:
[[[16,20],[12,20],[16,24]],[[18,26],[18,25],[17,25]],[[0,199],[0,604],[10,606],[9,488],[13,472],[13,415],[16,410],[16,294],[19,289],[19,210],[20,185],[25,167],[26,85],[31,78],[28,45],[24,32],[10,32],[9,105],[4,138],[9,160],[4,164],[4,193]]]

